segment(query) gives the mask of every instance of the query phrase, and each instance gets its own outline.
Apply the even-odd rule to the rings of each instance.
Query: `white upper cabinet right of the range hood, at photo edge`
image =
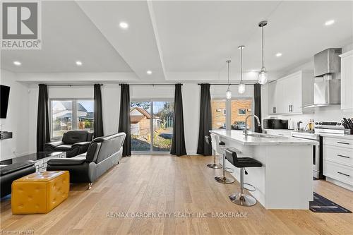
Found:
[[[341,109],[353,110],[353,50],[341,57]]]

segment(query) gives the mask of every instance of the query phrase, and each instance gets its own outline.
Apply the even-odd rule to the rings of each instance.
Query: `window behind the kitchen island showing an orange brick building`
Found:
[[[246,116],[251,115],[251,99],[211,100],[212,128],[244,130]],[[252,119],[248,119],[247,128],[251,129]]]

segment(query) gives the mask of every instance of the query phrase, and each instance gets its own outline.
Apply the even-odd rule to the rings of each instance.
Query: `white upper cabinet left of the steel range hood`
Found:
[[[313,74],[298,71],[268,84],[269,114],[301,114],[313,103]]]

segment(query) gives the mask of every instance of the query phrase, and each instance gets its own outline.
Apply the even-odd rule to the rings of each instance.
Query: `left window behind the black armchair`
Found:
[[[93,100],[50,100],[52,140],[61,140],[66,131],[93,132]]]

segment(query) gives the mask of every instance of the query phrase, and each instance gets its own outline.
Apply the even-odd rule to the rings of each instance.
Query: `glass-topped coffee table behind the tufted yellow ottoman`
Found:
[[[25,160],[32,160],[35,162],[35,170],[37,172],[42,172],[47,170],[47,161],[52,158],[66,158],[66,152],[35,152],[29,155],[3,160],[0,164],[8,165],[16,162],[23,162]]]

